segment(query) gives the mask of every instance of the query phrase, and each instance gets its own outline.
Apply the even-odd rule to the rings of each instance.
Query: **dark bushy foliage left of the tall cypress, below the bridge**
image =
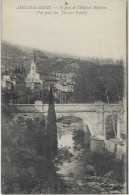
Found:
[[[11,119],[2,124],[2,193],[28,194],[43,183],[47,173],[45,135],[43,121],[19,119],[13,123]]]

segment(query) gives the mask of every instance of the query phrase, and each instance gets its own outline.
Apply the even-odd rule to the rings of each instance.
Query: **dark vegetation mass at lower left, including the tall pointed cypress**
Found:
[[[2,106],[2,193],[61,193],[63,183],[56,174],[57,134],[52,89],[47,125],[31,118],[13,121]],[[64,191],[64,190],[63,190]]]

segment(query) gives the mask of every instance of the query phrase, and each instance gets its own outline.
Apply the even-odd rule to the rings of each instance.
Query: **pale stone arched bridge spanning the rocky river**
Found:
[[[48,104],[13,104],[12,110],[17,108],[21,113],[43,113],[47,116]],[[124,128],[124,106],[120,104],[55,104],[57,119],[65,116],[75,116],[83,120],[83,130],[87,131],[87,126],[92,136],[106,136],[106,121],[109,116],[115,115],[117,118],[117,137],[121,135]],[[16,111],[16,112],[19,112]]]

